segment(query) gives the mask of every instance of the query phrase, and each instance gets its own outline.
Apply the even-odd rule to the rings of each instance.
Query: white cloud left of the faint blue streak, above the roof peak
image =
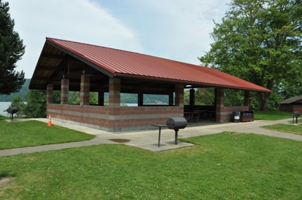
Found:
[[[142,51],[133,30],[90,1],[12,0],[9,5],[15,31],[26,45],[25,55],[17,63],[17,70],[24,70],[26,78],[34,72],[46,36]]]

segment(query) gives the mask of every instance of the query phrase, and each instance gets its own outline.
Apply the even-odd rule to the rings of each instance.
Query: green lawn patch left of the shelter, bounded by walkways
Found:
[[[47,126],[41,121],[8,123],[0,120],[0,149],[76,142],[91,140],[94,137],[60,126]]]

